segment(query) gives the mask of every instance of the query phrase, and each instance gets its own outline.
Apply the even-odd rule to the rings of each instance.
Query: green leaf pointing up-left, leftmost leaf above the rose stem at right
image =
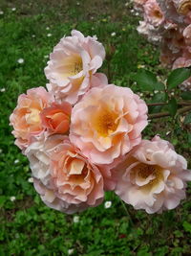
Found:
[[[152,72],[145,69],[138,69],[137,75],[133,78],[143,91],[162,90],[164,85],[157,80]]]

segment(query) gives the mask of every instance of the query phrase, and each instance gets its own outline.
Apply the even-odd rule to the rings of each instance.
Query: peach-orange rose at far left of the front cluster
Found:
[[[16,138],[15,144],[25,150],[31,143],[32,136],[40,135],[42,127],[40,112],[53,102],[53,95],[44,87],[32,88],[27,94],[18,97],[10,121],[13,127],[12,134]]]

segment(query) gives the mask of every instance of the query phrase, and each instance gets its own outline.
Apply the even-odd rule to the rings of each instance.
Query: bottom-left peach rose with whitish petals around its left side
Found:
[[[55,146],[55,143],[58,144]],[[28,150],[27,156],[34,187],[49,207],[72,214],[102,202],[104,184],[99,169],[71,144],[67,136],[49,137],[44,150],[40,150],[41,155],[37,147],[30,147],[32,152]]]

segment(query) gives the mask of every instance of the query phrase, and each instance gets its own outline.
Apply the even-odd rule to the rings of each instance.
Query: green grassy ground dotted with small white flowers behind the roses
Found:
[[[72,29],[97,35],[107,51],[101,71],[109,81],[138,92],[138,67],[164,78],[159,51],[138,35],[138,15],[124,0],[12,0],[0,2],[0,255],[190,255],[191,186],[174,211],[147,215],[125,207],[114,193],[79,215],[46,207],[34,192],[28,160],[13,145],[9,116],[17,97],[45,86],[44,67],[53,46]],[[176,91],[175,91],[176,93]],[[149,101],[153,95],[144,93]],[[186,130],[171,119],[152,121],[157,132],[190,161]],[[170,132],[170,133],[169,133]],[[168,134],[168,135],[166,135]]]

